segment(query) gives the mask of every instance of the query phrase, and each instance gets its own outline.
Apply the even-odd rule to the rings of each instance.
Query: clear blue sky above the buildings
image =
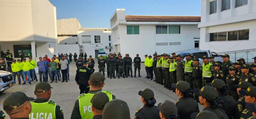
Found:
[[[49,0],[57,19],[78,18],[83,28],[110,28],[115,9],[126,15],[201,16],[201,0]]]

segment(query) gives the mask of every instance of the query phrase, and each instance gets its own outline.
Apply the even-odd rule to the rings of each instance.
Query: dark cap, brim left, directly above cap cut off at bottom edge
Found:
[[[205,99],[209,101],[215,100],[217,97],[219,97],[217,91],[210,86],[204,86],[202,89],[194,89],[194,93],[196,95],[201,95]]]

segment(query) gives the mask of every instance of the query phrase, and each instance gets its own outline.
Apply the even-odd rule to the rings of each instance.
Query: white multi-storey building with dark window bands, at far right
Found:
[[[255,49],[256,0],[202,0],[200,50],[230,52]],[[256,52],[236,54],[252,62]],[[248,58],[247,58],[248,56]]]

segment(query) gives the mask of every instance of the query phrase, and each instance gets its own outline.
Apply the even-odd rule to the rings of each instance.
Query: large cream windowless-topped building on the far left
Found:
[[[39,60],[58,53],[56,7],[48,0],[0,0],[0,49]]]

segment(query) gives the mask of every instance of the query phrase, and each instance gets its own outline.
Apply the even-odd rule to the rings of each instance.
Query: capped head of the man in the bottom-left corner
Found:
[[[32,100],[34,100],[33,97],[28,97],[25,93],[16,91],[4,99],[3,109],[11,119],[29,119],[32,108],[29,101]]]

